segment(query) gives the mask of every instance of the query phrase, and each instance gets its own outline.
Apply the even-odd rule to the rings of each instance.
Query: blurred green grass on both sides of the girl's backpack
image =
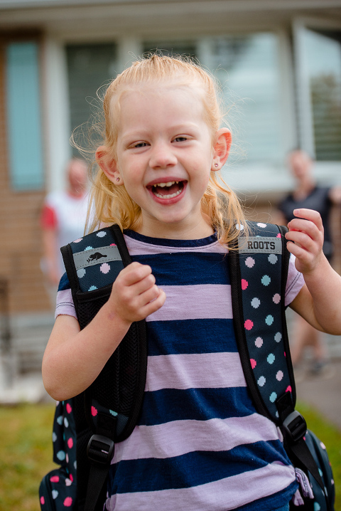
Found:
[[[52,461],[53,404],[0,406],[0,511],[39,511],[38,487]],[[341,431],[305,404],[308,428],[325,443],[334,472],[336,505],[341,511]]]

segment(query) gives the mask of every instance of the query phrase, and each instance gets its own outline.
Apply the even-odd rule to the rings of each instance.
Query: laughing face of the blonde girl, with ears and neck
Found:
[[[222,165],[199,92],[145,85],[123,95],[120,105],[117,161],[107,175],[117,186],[124,184],[141,207],[139,232],[209,236],[213,231],[202,217],[200,199],[210,171]]]

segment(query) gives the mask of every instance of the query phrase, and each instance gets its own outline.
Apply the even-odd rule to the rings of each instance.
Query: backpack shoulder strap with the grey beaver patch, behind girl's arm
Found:
[[[90,233],[61,251],[82,329],[107,302],[112,283],[131,258],[117,225]],[[139,418],[146,368],[145,321],[134,322],[97,379],[75,398],[77,509],[94,511],[100,505],[114,443],[127,438]]]

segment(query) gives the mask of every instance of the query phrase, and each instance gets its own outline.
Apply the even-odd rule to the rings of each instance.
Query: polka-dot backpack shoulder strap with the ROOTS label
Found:
[[[295,466],[308,470],[324,491],[313,455],[305,443],[307,425],[295,410],[296,386],[285,315],[290,253],[287,228],[249,222],[229,251],[232,312],[244,376],[256,411],[281,428]]]

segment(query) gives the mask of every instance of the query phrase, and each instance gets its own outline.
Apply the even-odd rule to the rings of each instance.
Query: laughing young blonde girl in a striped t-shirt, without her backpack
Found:
[[[104,114],[97,222],[121,226],[133,263],[82,331],[64,278],[45,387],[57,400],[85,390],[131,322],[146,318],[144,404],[116,445],[105,509],[288,510],[295,471],[276,426],[247,393],[232,326],[226,257],[244,218],[216,177],[231,133],[220,127],[215,83],[194,63],[152,56],[109,85]],[[341,334],[341,281],[322,252],[320,216],[298,210],[289,227],[296,263],[286,303]]]

